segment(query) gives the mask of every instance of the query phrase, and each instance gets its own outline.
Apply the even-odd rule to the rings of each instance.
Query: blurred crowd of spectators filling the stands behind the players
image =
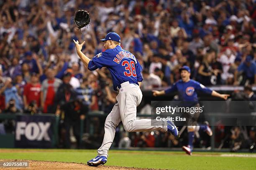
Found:
[[[81,31],[78,9],[91,16]],[[0,14],[0,112],[63,114],[74,125],[88,110],[110,112],[108,70],[87,70],[72,40],[92,58],[111,31],[142,65],[142,90],[172,85],[182,65],[207,86],[256,85],[255,0],[0,0]]]

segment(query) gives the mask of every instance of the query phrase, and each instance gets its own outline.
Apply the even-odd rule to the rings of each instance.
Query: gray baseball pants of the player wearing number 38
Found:
[[[151,124],[151,119],[136,120],[137,106],[141,103],[142,92],[138,85],[123,82],[116,100],[117,104],[105,120],[105,134],[101,147],[97,150],[98,156],[108,157],[108,150],[115,137],[115,128],[123,122],[127,132],[141,132],[148,130],[167,131],[167,123]]]

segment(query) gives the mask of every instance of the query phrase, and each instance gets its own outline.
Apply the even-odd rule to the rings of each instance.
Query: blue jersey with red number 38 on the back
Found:
[[[113,80],[114,90],[126,81],[135,83],[143,80],[141,76],[142,67],[135,56],[126,50],[123,50],[120,45],[113,49],[100,52],[88,64],[89,70],[107,67],[110,71]]]

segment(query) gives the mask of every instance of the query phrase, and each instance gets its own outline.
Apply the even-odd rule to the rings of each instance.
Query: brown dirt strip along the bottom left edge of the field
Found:
[[[155,170],[155,169],[143,169],[143,168],[128,168],[118,166],[103,166],[90,167],[82,163],[63,163],[56,161],[38,161],[38,160],[0,160],[6,162],[23,162],[28,161],[28,168],[0,168],[3,170]]]

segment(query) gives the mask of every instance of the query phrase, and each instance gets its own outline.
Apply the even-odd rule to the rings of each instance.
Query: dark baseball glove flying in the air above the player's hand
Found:
[[[81,29],[90,23],[90,14],[86,10],[76,11],[74,23],[78,29]]]

